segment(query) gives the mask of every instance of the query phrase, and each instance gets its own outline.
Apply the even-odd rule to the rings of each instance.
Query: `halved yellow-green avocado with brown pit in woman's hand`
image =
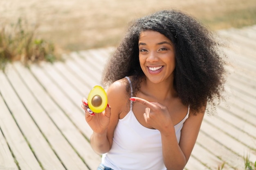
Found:
[[[88,95],[88,107],[94,113],[101,113],[108,105],[108,98],[105,90],[99,86],[94,86]]]

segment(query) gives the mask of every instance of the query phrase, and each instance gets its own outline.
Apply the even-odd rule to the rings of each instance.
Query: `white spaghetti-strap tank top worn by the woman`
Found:
[[[126,78],[130,82],[132,97],[132,84]],[[175,125],[178,142],[182,126],[188,117],[189,108],[185,118]],[[114,170],[166,170],[161,134],[157,129],[148,129],[138,122],[132,111],[132,101],[130,111],[117,123],[112,148],[102,155],[102,163]]]

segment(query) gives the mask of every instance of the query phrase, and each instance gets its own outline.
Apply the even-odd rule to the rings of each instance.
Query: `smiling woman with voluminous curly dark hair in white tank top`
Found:
[[[130,26],[106,65],[108,107],[94,114],[100,169],[182,170],[207,105],[223,91],[224,61],[209,31],[175,10],[142,17]]]

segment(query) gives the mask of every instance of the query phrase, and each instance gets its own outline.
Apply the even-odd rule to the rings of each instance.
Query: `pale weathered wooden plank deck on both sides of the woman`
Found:
[[[243,170],[256,161],[256,26],[218,31],[231,65],[227,102],[205,116],[186,170]],[[65,62],[0,71],[0,169],[96,170],[81,98],[100,84],[113,48],[72,52]]]

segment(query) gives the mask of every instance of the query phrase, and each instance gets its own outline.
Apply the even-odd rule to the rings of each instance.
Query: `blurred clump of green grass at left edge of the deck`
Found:
[[[32,27],[32,28],[31,28]],[[28,26],[21,18],[0,28],[0,69],[8,62],[19,60],[25,65],[38,61],[54,62],[59,56],[51,42],[36,37],[38,26]]]

